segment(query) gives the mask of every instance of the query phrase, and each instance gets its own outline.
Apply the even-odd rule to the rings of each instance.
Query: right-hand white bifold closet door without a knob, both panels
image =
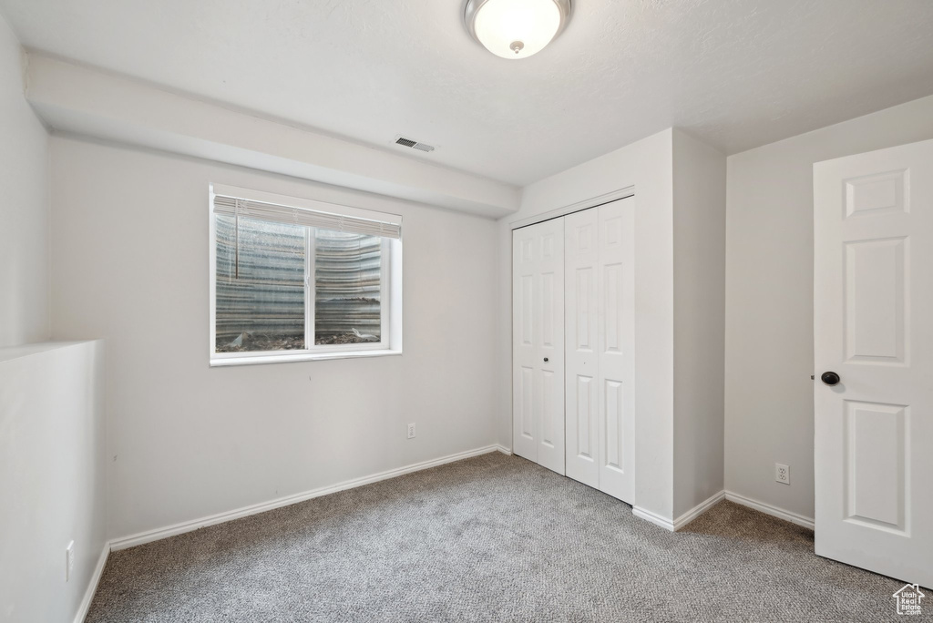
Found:
[[[634,201],[565,216],[566,474],[634,502]]]

